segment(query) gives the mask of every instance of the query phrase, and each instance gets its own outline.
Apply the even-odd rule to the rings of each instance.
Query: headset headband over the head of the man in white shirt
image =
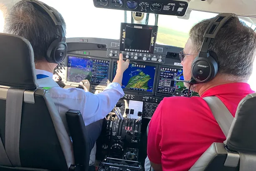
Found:
[[[40,2],[38,0],[22,0],[20,2],[31,2],[33,4],[33,6],[35,8],[37,8],[40,12],[43,12],[45,14],[48,14],[52,21],[54,22],[55,26],[58,28],[58,30],[60,31],[61,35],[61,40],[65,41],[65,32],[63,29],[63,25],[62,22],[60,21],[60,19],[55,15],[55,12],[52,10],[51,7],[49,7],[48,5],[46,5],[43,2]]]

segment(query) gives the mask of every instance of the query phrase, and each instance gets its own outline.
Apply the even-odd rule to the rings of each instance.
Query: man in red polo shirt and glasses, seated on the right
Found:
[[[191,29],[180,53],[186,81],[191,80],[193,61],[205,47],[203,35],[209,23],[203,20]],[[235,116],[239,102],[253,93],[246,83],[256,55],[256,34],[251,28],[232,17],[211,40],[208,52],[215,56],[218,72],[213,79],[191,86],[200,97],[164,98],[153,114],[147,153],[155,171],[188,171],[213,142],[226,139],[203,97],[218,97]]]

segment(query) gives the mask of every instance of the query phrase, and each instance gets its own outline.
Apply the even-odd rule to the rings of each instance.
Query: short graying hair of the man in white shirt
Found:
[[[51,8],[62,22],[66,33],[66,24],[62,15],[53,7]],[[45,59],[48,47],[61,35],[50,16],[39,11],[31,2],[18,2],[7,10],[4,32],[30,41],[35,61]]]

